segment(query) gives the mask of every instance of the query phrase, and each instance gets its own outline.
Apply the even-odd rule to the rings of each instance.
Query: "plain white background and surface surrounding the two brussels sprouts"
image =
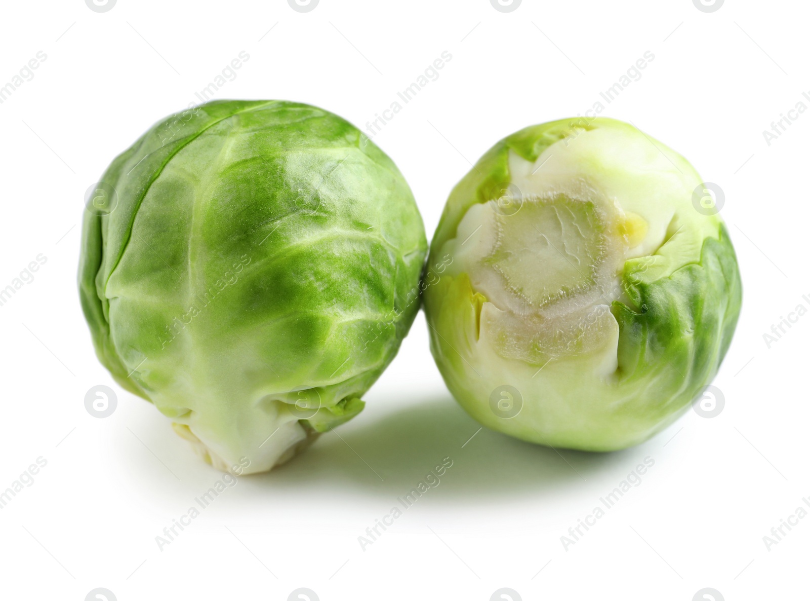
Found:
[[[0,307],[0,489],[36,457],[47,466],[0,510],[0,596],[288,599],[307,587],[322,601],[485,601],[509,587],[522,599],[689,601],[712,587],[729,601],[804,598],[810,518],[770,551],[763,536],[810,496],[810,317],[770,349],[763,334],[810,307],[810,113],[770,145],[762,131],[810,106],[808,16],[801,2],[753,0],[714,13],[691,0],[523,0],[510,13],[488,0],[321,0],[305,14],[285,0],[118,0],[103,14],[80,0],[4,3],[0,85],[37,51],[47,59],[0,104],[0,287],[36,255],[47,262]],[[452,54],[374,138],[411,184],[428,239],[470,161],[596,101],[683,153],[725,192],[743,274],[714,380],[723,412],[689,410],[605,455],[486,430],[469,440],[479,426],[445,389],[420,315],[339,436],[240,479],[160,551],[156,535],[220,474],[96,360],[75,285],[83,195],[241,50],[249,61],[216,97],[303,101],[362,129]],[[641,79],[601,99],[647,50]],[[107,419],[84,408],[96,384],[118,394]],[[441,485],[362,550],[364,530],[442,457],[454,464]],[[644,457],[654,467],[642,484],[566,551],[569,526]]]

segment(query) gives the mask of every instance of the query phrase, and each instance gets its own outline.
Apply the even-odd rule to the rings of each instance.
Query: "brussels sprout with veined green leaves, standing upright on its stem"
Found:
[[[270,470],[352,419],[418,311],[411,190],[325,110],[173,115],[94,199],[79,289],[96,353],[221,470]]]

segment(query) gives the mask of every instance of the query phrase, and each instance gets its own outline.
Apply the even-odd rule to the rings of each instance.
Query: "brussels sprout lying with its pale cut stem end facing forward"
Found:
[[[689,162],[606,118],[527,127],[450,193],[424,272],[431,350],[485,426],[609,451],[674,421],[740,313],[734,249]]]

